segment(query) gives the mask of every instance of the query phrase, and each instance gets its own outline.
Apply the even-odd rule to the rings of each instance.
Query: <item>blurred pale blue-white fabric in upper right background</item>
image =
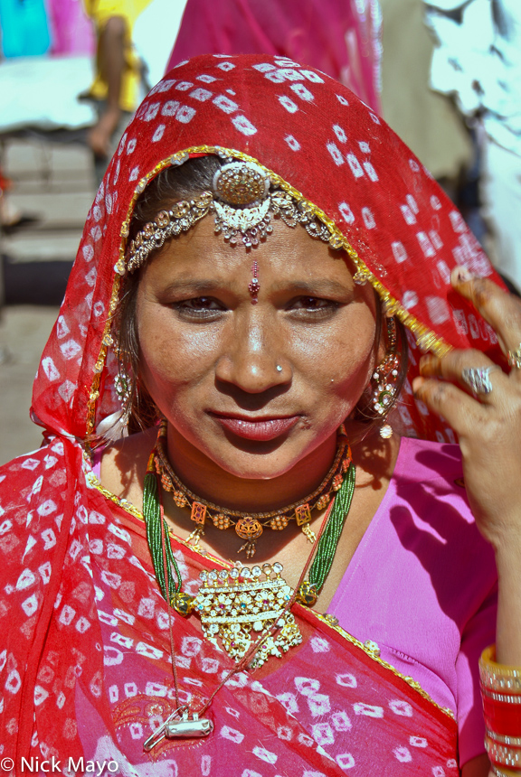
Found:
[[[486,247],[521,290],[521,3],[429,0],[439,46],[431,85],[453,95],[475,128]]]

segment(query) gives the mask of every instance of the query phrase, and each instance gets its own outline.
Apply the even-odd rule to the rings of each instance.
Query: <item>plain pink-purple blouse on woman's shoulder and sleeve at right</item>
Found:
[[[495,641],[497,573],[465,489],[455,490],[461,476],[458,445],[402,438],[384,500],[328,613],[457,713],[464,764],[483,753],[478,658]]]

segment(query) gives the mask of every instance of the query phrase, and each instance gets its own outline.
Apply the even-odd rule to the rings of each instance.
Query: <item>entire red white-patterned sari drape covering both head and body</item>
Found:
[[[206,56],[172,70],[128,126],[89,212],[34,383],[33,417],[49,442],[0,472],[0,746],[17,764],[29,754],[116,753],[126,759],[122,773],[135,773],[132,763],[149,773],[142,740],[171,705],[166,605],[142,526],[86,479],[83,441],[119,407],[111,328],[125,225],[147,182],[182,164],[187,151],[258,160],[346,240],[410,329],[399,408],[408,434],[452,434],[412,399],[417,341],[437,351],[472,345],[499,358],[494,333],[449,282],[456,264],[494,276],[487,257],[371,108],[323,73],[278,57]],[[176,550],[190,588],[204,562]],[[354,759],[358,773],[457,773],[450,716],[317,616],[295,612],[303,644],[223,688],[211,708],[216,735],[165,744],[167,759],[149,756],[157,769],[170,759],[180,774],[228,774],[239,763],[247,777],[311,777],[344,773]],[[225,656],[193,619],[176,620],[175,640],[185,693],[204,697]],[[244,743],[238,750],[233,736]]]

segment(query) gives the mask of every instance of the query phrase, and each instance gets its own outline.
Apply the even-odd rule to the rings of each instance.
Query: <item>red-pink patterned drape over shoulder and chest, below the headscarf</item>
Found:
[[[2,741],[18,768],[24,755],[63,765],[112,761],[123,774],[148,773],[140,771],[147,764],[250,777],[333,776],[355,766],[357,774],[448,765],[458,773],[453,716],[300,605],[302,644],[228,681],[206,714],[213,735],[164,740],[145,753],[144,740],[175,709],[166,603],[137,511],[111,501],[87,465],[68,487],[69,467],[78,472],[81,454],[56,441],[5,469],[19,507],[12,527],[0,528],[0,548],[10,551],[5,579],[13,581],[4,600],[12,639],[1,659]],[[184,589],[194,594],[201,569],[223,565],[172,541]],[[232,660],[204,639],[196,615],[175,613],[174,641],[181,700],[200,707]]]

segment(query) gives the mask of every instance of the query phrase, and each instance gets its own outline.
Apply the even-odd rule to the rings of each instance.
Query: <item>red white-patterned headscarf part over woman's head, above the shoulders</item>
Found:
[[[360,99],[323,73],[264,55],[196,57],[150,91],[128,126],[90,210],[60,317],[34,383],[33,411],[48,429],[83,438],[118,408],[110,316],[133,203],[186,154],[254,159],[313,205],[356,266],[410,329],[411,368],[400,406],[406,434],[454,439],[412,400],[424,349],[497,339],[450,287],[465,265],[493,276],[487,257],[430,173]]]

